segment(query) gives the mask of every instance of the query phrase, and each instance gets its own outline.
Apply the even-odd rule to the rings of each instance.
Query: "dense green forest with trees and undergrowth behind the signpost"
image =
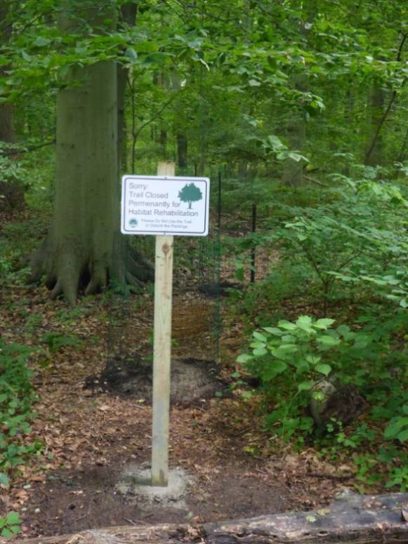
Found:
[[[42,455],[33,379],[80,345],[21,342],[11,316],[29,331],[46,289],[65,324],[112,282],[151,294],[119,177],[158,161],[222,180],[240,409],[270,444],[353,458],[358,491],[407,489],[407,37],[393,0],[0,0],[3,489]]]

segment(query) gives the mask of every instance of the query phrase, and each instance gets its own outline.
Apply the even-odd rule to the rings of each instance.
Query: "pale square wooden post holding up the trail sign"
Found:
[[[174,175],[173,162],[157,164],[157,175]],[[154,272],[152,486],[169,482],[169,411],[173,237],[157,236]]]

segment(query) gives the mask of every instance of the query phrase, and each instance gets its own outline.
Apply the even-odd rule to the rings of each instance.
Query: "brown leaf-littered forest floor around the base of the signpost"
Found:
[[[249,403],[235,392],[172,406],[170,467],[181,467],[192,477],[181,505],[157,507],[122,496],[117,489],[121,473],[150,460],[152,411],[143,399],[84,387],[106,364],[106,296],[82,298],[69,310],[62,300],[49,300],[42,287],[17,286],[0,294],[1,335],[42,346],[32,358],[38,400],[29,439],[39,439],[44,448],[15,471],[9,489],[1,490],[0,515],[20,512],[22,536],[310,510],[324,507],[349,484],[346,460],[334,466],[312,447],[301,453],[282,449],[262,431],[256,399]],[[225,307],[223,313],[221,353],[231,373],[244,336]],[[137,319],[143,324],[149,316],[151,296],[146,296]],[[187,311],[185,320],[197,316]],[[132,329],[133,340],[148,340],[134,319]],[[61,345],[53,338],[62,339]],[[75,339],[72,345],[70,338]]]

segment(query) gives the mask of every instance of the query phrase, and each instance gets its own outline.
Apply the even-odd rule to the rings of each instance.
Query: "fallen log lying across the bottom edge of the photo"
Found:
[[[349,493],[329,507],[214,524],[119,526],[15,544],[407,544],[408,493]]]

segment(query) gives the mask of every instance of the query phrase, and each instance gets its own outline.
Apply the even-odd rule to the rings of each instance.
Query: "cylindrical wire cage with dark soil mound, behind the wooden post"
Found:
[[[190,402],[197,394],[208,397],[213,392],[210,383],[217,382],[221,336],[218,201],[215,187],[207,237],[173,240],[171,379],[180,402]],[[154,262],[154,240],[154,236],[141,235],[131,237],[130,243]],[[132,293],[125,285],[112,290],[107,365],[101,376],[108,388],[149,399],[151,386],[145,382],[151,380],[152,371],[153,302],[154,284],[148,284],[143,293]]]

